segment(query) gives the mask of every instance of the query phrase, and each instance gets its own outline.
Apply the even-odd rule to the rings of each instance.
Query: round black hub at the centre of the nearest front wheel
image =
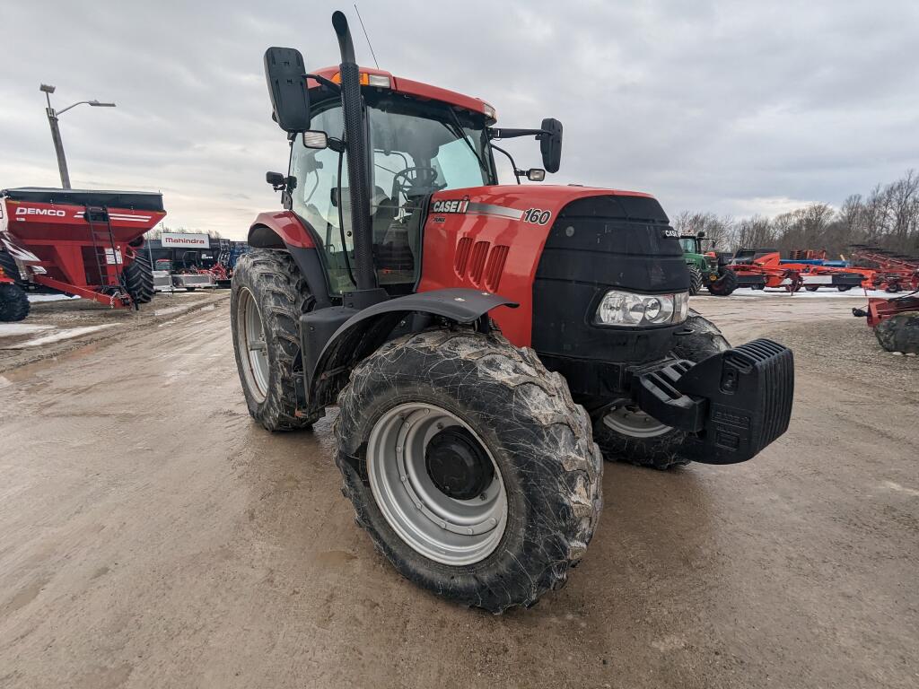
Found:
[[[461,426],[450,426],[431,438],[425,450],[425,469],[437,490],[454,500],[482,495],[494,479],[492,460]]]

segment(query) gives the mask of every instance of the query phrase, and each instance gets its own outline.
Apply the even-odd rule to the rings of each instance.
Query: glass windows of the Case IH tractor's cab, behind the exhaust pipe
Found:
[[[442,189],[495,184],[494,162],[481,115],[389,92],[366,96],[373,152],[374,263],[381,287],[408,292],[421,270],[421,211],[426,199]],[[340,138],[344,130],[340,103],[315,107],[310,127]],[[297,178],[293,210],[322,239],[329,285],[335,293],[355,286],[345,155],[332,149],[308,149],[298,138],[289,171]]]

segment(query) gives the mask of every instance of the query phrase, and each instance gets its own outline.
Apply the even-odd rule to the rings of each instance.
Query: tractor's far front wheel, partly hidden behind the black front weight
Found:
[[[698,363],[731,346],[718,327],[698,311],[689,310],[686,330],[691,333],[677,336],[673,356]],[[608,461],[654,469],[689,463],[679,454],[686,432],[662,424],[637,407],[615,407],[598,416],[594,421],[594,439]]]

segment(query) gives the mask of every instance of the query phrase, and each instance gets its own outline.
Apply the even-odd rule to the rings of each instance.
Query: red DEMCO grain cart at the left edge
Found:
[[[160,194],[6,189],[0,192],[0,266],[28,290],[136,308],[153,298],[143,234],[164,217]]]

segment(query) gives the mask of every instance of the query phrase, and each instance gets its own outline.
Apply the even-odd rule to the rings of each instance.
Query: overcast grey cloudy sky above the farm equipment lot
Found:
[[[380,67],[480,96],[499,124],[564,124],[553,181],[649,191],[678,210],[838,205],[919,167],[919,4],[360,0]],[[161,190],[167,224],[243,238],[278,207],[287,145],[262,55],[338,62],[349,3],[0,3],[0,188],[59,186],[40,83],[58,87],[75,188]],[[512,142],[508,142],[512,145]],[[538,165],[534,141],[513,142]]]

